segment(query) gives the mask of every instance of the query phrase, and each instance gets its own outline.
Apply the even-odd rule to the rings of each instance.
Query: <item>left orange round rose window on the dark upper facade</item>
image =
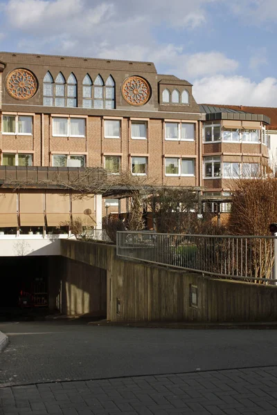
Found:
[[[7,77],[8,93],[17,100],[28,100],[37,92],[35,75],[26,69],[15,69]]]

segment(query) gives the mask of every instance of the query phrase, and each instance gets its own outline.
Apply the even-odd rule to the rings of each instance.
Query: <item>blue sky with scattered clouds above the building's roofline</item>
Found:
[[[277,0],[0,0],[0,50],[154,62],[198,103],[277,107]]]

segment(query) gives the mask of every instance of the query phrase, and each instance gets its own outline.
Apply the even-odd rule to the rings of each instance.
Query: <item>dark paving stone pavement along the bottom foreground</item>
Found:
[[[276,415],[277,367],[0,388],[0,415]]]

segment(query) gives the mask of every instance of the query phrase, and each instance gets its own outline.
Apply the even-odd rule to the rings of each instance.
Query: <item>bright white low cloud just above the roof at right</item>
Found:
[[[193,95],[199,103],[277,107],[277,79],[256,83],[242,76],[204,77],[195,81]]]

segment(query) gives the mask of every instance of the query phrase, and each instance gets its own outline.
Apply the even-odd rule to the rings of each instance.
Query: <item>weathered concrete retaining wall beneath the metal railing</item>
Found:
[[[210,279],[116,257],[116,247],[61,241],[64,257],[107,270],[107,318],[111,321],[269,321],[277,318],[277,289]],[[79,266],[80,267],[80,266]],[[81,270],[76,266],[77,270]],[[79,273],[79,271],[78,271]],[[190,286],[197,287],[197,307]]]

